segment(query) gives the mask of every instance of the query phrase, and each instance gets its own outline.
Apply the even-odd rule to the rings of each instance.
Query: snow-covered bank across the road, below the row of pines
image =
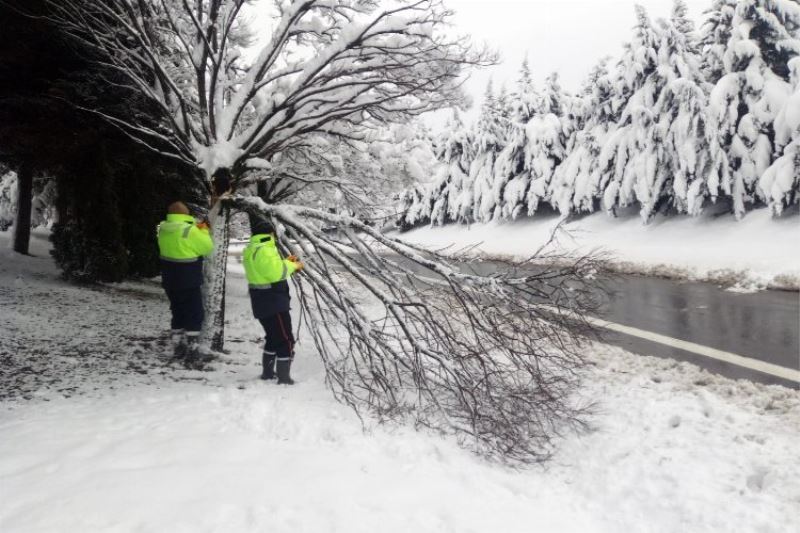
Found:
[[[517,222],[425,227],[401,235],[410,242],[454,250],[478,245],[485,256],[527,258],[544,245],[559,223],[555,216]],[[739,290],[800,288],[800,216],[773,219],[768,209],[737,222],[729,215],[610,218],[595,213],[556,233],[552,250],[586,253],[601,249],[610,266],[642,273],[722,283]]]

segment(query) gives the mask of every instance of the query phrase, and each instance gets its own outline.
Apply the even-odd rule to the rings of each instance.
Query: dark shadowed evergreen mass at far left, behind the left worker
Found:
[[[53,255],[65,277],[154,276],[153,228],[170,201],[193,199],[184,188],[186,169],[65,104],[90,103],[102,112],[142,117],[143,124],[152,112],[124,84],[108,90],[119,82],[114,69],[92,64],[94,50],[53,25],[49,7],[41,0],[0,2],[0,19],[8,23],[0,47],[0,161],[32,171],[26,190],[34,197],[26,196],[34,220],[41,209],[36,193],[55,196]],[[31,183],[31,174],[52,179]],[[31,217],[18,212],[17,220],[21,227]]]

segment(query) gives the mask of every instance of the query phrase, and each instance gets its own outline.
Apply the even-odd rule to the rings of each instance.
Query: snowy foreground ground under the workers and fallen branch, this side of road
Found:
[[[785,532],[800,509],[800,393],[598,346],[591,433],[545,468],[487,464],[333,402],[307,335],[263,384],[230,283],[213,372],[168,366],[152,282],[79,289],[43,241],[0,237],[0,530]],[[303,339],[306,339],[305,341]],[[28,398],[28,399],[25,399]]]

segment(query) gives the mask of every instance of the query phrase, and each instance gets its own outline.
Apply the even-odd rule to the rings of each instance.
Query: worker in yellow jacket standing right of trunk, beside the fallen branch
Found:
[[[284,259],[281,256],[271,224],[261,221],[253,230],[250,243],[244,249],[243,262],[253,316],[261,322],[266,334],[261,379],[277,376],[279,384],[292,385],[294,335],[288,280],[303,269],[303,263],[295,257]]]

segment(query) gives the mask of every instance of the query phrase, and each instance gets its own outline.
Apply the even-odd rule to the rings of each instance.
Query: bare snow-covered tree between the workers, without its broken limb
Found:
[[[245,0],[52,1],[54,19],[94,48],[127,85],[160,111],[161,124],[99,114],[135,140],[197,169],[209,191],[216,173],[236,189],[250,171],[310,135],[362,138],[360,128],[409,119],[462,95],[465,65],[491,58],[440,31],[450,12],[439,0],[271,2],[260,37]],[[265,5],[265,4],[262,4]],[[222,191],[218,191],[222,192]],[[215,242],[206,262],[204,332],[221,348],[228,214],[211,212]],[[213,325],[213,326],[212,326]]]

